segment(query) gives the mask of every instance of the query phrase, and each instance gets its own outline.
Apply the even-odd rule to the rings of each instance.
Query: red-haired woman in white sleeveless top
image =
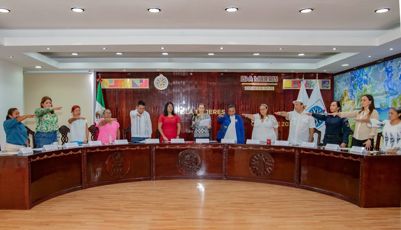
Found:
[[[88,124],[86,118],[81,116],[81,107],[73,106],[71,108],[72,117],[68,119],[70,124],[70,142],[77,142],[78,145],[88,142]]]

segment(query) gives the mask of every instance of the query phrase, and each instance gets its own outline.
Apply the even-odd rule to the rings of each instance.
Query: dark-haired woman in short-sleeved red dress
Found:
[[[158,120],[158,130],[160,132],[160,141],[180,138],[181,120],[174,113],[174,105],[171,102],[167,102],[164,105],[164,114],[160,115]]]

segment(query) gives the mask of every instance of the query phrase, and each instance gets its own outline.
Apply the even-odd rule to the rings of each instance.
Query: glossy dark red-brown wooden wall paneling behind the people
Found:
[[[195,112],[199,102],[206,104],[207,110],[225,110],[234,104],[237,114],[256,114],[261,104],[267,104],[271,114],[278,111],[292,111],[292,101],[298,97],[299,90],[283,90],[283,79],[316,79],[316,73],[220,73],[220,72],[162,72],[169,85],[166,90],[157,90],[154,79],[161,72],[98,72],[103,79],[107,78],[148,78],[149,89],[103,89],[106,108],[110,108],[113,117],[118,119],[120,132],[130,125],[130,111],[135,110],[138,101],[146,102],[146,111],[152,120],[152,137],[156,138],[157,121],[163,113],[164,104],[172,102],[174,111],[181,119],[181,138],[192,140],[193,131],[190,110]],[[278,76],[274,91],[245,91],[240,77],[246,76]],[[318,73],[319,79],[331,79],[331,89],[321,90],[326,109],[333,100],[334,78],[332,73]],[[308,95],[312,90],[306,90]],[[216,111],[217,112],[217,111]],[[274,115],[274,114],[273,114]],[[221,124],[217,122],[218,114],[211,114],[212,138],[215,140]],[[282,139],[287,140],[289,123],[282,116],[275,116],[282,130]],[[253,126],[248,118],[243,117],[247,137],[251,138]],[[284,126],[283,126],[284,125]],[[286,126],[287,125],[287,126]]]

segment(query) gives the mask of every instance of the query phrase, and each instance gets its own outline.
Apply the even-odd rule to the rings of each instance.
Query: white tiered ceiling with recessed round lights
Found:
[[[400,2],[2,0],[0,59],[24,71],[336,73],[401,53]]]

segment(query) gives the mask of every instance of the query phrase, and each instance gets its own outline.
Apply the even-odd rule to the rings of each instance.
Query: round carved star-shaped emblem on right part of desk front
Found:
[[[266,178],[274,169],[273,157],[266,152],[257,152],[249,159],[249,169],[256,177]]]

